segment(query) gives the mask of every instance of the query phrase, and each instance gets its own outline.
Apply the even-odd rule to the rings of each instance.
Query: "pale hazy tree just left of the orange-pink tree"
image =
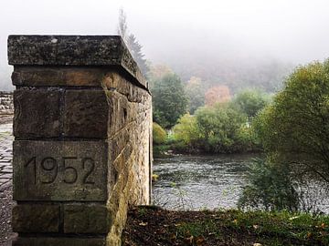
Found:
[[[186,84],[186,96],[188,98],[188,111],[194,114],[196,108],[205,105],[205,89],[200,77],[191,77]]]

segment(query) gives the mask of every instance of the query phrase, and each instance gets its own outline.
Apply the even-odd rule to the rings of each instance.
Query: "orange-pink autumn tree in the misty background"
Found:
[[[231,98],[227,86],[211,87],[205,94],[206,105],[214,106],[216,103],[228,102]]]

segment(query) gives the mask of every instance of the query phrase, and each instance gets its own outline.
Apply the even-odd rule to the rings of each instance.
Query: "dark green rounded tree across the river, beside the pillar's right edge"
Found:
[[[154,82],[154,121],[163,128],[172,128],[186,113],[187,99],[181,79],[167,74]]]

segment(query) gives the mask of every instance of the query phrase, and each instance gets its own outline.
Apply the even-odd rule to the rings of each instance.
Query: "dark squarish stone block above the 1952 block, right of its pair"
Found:
[[[107,138],[109,105],[102,90],[65,92],[64,136]]]

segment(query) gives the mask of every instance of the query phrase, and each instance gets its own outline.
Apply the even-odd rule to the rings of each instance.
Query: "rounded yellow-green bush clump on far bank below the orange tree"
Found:
[[[191,116],[186,114],[175,125],[175,149],[231,153],[255,149],[246,115],[233,104],[203,107]]]

